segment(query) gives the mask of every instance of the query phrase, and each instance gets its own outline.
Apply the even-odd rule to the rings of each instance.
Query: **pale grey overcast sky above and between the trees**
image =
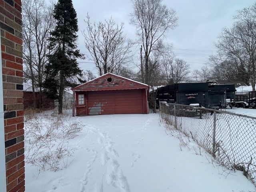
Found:
[[[191,70],[201,68],[209,54],[214,54],[214,41],[225,26],[232,25],[236,10],[254,4],[254,0],[163,0],[169,8],[176,10],[178,27],[166,34],[166,42],[172,43],[178,58],[186,60]],[[91,22],[104,21],[112,16],[116,23],[124,22],[124,33],[135,39],[135,28],[129,24],[132,12],[130,0],[73,0],[78,15],[79,48],[88,53],[81,31],[86,29],[84,18],[87,12]],[[80,62],[92,62],[88,58]],[[138,61],[139,62],[139,61]],[[80,63],[83,70],[97,74],[94,64]]]

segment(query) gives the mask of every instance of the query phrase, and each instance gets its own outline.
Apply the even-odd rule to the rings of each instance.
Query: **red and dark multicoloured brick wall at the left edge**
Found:
[[[7,191],[24,192],[21,0],[0,0],[0,27]]]

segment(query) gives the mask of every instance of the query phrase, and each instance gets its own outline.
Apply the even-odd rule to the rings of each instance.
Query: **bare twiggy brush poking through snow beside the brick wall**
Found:
[[[42,112],[26,116],[25,148],[26,162],[41,170],[58,171],[70,164],[75,148],[69,141],[78,136],[82,124],[72,121],[67,115],[54,115]]]

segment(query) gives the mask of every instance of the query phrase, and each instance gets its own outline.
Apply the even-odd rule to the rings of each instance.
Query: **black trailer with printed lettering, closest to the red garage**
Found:
[[[176,83],[158,88],[156,98],[159,101],[178,103],[184,105],[198,104],[209,107],[208,104],[208,83]]]

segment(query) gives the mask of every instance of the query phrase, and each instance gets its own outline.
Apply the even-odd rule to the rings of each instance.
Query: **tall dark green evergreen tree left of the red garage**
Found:
[[[58,99],[59,114],[62,114],[64,88],[70,84],[72,77],[80,75],[77,58],[83,58],[75,44],[78,36],[78,21],[72,0],[58,0],[54,6],[53,17],[56,26],[51,32],[49,48],[54,50],[46,66],[44,88],[48,97]]]

